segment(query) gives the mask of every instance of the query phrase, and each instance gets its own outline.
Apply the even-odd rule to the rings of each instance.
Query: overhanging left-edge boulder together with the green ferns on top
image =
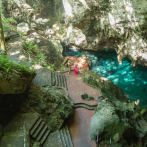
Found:
[[[35,77],[35,72],[21,64],[10,62],[0,56],[0,94],[20,94]]]

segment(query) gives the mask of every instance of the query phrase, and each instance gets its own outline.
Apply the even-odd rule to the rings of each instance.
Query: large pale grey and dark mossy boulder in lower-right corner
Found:
[[[99,145],[111,139],[111,146],[123,147],[130,144],[144,146],[147,137],[147,122],[137,111],[134,103],[117,99],[102,100],[91,118],[90,137],[96,139],[99,131]],[[107,145],[110,143],[107,142]],[[115,144],[115,145],[113,145]]]

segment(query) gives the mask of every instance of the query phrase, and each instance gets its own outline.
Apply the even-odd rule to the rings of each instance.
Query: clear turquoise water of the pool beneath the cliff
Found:
[[[138,65],[132,68],[131,61],[124,59],[118,64],[117,54],[113,52],[76,51],[67,49],[64,56],[89,56],[92,64],[90,69],[111,80],[129,97],[130,100],[140,100],[140,106],[147,107],[147,67]]]

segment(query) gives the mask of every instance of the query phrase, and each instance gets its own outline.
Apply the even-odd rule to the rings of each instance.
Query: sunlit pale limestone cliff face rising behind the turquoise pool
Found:
[[[14,13],[12,5],[18,21],[28,21],[48,36],[85,50],[113,49],[119,64],[128,57],[132,66],[147,66],[145,0],[28,0],[20,5],[12,0],[7,9]]]

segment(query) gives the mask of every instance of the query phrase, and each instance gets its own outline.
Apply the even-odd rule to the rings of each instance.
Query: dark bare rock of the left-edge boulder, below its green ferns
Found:
[[[0,94],[20,94],[35,77],[35,73],[21,68],[11,68],[9,72],[0,69]]]

